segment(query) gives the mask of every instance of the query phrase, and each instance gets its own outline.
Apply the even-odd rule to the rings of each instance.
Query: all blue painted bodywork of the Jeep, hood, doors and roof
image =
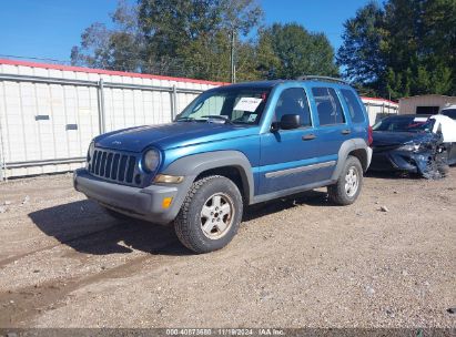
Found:
[[[353,91],[348,85],[318,81],[270,81],[240,84],[240,86],[242,85],[272,88],[259,125],[173,122],[164,125],[132,127],[100,135],[95,139],[95,144],[99,147],[138,153],[150,147],[156,149],[160,151],[162,159],[156,172],[164,171],[175,160],[186,155],[235,150],[249,159],[254,175],[254,194],[260,195],[287,188],[288,185],[296,186],[296,181],[300,181],[302,185],[315,181],[326,181],[334,171],[334,165],[330,164],[337,161],[342,143],[353,137],[367,140],[368,121],[353,124],[349,113],[347,113],[348,108],[340,92],[340,89]],[[312,88],[315,86],[333,88],[336,91],[345,115],[345,123],[331,126],[320,125],[316,104],[312,94]],[[305,90],[313,126],[290,131],[281,130],[273,133],[271,132],[271,123],[274,119],[277,100],[281,93],[288,88],[303,88]],[[359,103],[366,116],[361,100]],[[344,129],[351,129],[351,134],[342,134]],[[310,133],[316,135],[316,141],[302,141],[301,137]],[[313,145],[316,142],[318,145]],[[290,177],[267,178],[265,176],[270,172],[322,163],[330,164],[300,173],[294,181]],[[146,175],[146,182],[152,182],[152,180],[153,174]]]

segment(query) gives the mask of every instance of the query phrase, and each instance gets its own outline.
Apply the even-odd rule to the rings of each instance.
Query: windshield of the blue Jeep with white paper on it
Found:
[[[257,124],[270,88],[220,88],[202,93],[176,116],[178,122]]]

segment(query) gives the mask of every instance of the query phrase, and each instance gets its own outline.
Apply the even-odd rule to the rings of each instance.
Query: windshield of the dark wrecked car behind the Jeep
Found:
[[[379,121],[372,129],[391,132],[430,132],[434,120],[427,116],[392,116]]]

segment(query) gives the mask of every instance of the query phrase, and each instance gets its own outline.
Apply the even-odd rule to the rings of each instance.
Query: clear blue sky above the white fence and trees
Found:
[[[134,0],[131,0],[132,2]],[[367,0],[259,0],[265,23],[297,22],[341,43],[343,23]],[[93,22],[110,23],[116,0],[0,0],[0,58],[70,60],[82,31]]]

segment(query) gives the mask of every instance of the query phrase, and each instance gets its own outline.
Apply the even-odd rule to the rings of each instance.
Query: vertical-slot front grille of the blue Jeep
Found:
[[[136,156],[109,150],[95,149],[89,163],[89,172],[95,176],[133,184]]]

